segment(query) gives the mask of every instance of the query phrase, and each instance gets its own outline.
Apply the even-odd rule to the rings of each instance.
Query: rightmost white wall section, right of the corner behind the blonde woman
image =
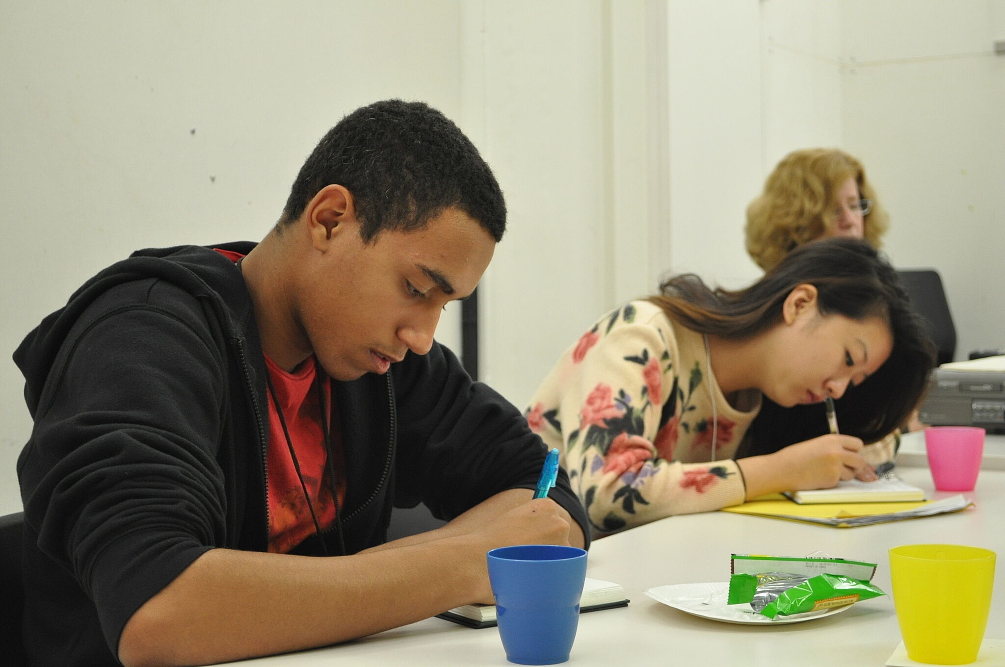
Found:
[[[1005,2],[844,0],[841,20],[844,146],[890,211],[887,251],[942,273],[958,359],[1005,348]]]

